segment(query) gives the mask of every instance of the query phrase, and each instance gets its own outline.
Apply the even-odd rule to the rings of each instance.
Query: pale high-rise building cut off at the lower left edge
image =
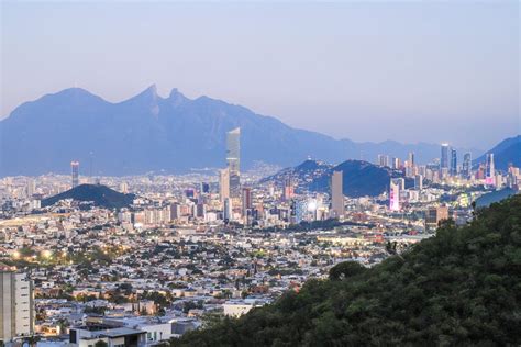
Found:
[[[34,333],[33,283],[25,273],[0,268],[0,340]]]

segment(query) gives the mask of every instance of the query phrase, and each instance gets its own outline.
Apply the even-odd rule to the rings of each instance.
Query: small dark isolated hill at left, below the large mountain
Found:
[[[91,201],[106,209],[126,208],[134,201],[134,194],[123,194],[102,184],[80,184],[57,195],[42,200],[42,206],[53,205],[60,200]]]

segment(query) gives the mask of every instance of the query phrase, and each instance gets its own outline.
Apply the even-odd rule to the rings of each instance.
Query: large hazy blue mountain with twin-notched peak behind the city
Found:
[[[329,163],[375,160],[380,153],[418,161],[440,156],[432,144],[354,143],[292,128],[241,105],[208,97],[195,100],[155,86],[119,103],[80,89],[66,89],[25,102],[0,121],[0,176],[68,172],[80,175],[184,172],[225,165],[225,133],[241,127],[243,169],[256,160],[292,166],[308,156]]]

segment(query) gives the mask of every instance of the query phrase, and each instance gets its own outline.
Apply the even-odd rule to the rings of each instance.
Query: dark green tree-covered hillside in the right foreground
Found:
[[[506,346],[521,344],[521,195],[451,222],[380,265],[330,280],[173,346]]]

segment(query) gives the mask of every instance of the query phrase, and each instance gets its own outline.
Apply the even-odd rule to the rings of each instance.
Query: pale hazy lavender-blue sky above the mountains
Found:
[[[517,1],[1,1],[1,116],[156,83],[355,141],[488,148],[521,133]]]

